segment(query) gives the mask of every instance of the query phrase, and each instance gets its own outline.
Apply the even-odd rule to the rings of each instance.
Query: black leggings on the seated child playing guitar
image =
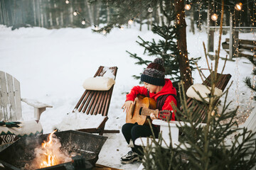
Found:
[[[158,137],[159,130],[154,125],[152,125],[155,137]],[[139,137],[149,137],[152,135],[151,128],[149,125],[138,125],[137,123],[126,123],[122,126],[122,133],[124,135],[125,140],[129,144],[129,141],[132,139],[132,142],[139,138]],[[142,147],[134,145],[132,147],[132,151],[136,152],[137,154],[143,154],[139,150],[142,151]]]

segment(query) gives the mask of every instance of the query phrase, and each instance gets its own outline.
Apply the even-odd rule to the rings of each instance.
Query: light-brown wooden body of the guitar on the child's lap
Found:
[[[156,109],[156,101],[153,98],[138,95],[127,112],[126,123],[148,124],[146,120],[146,118],[149,118],[148,115],[140,114],[142,113],[142,108]]]

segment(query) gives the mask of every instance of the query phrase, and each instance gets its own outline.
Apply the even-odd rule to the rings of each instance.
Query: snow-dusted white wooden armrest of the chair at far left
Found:
[[[43,113],[43,111],[46,111],[46,108],[53,108],[53,106],[50,106],[48,104],[41,103],[36,100],[27,99],[27,98],[21,98],[21,101],[34,107],[34,117],[35,117],[36,122],[38,122],[40,120],[40,116]]]

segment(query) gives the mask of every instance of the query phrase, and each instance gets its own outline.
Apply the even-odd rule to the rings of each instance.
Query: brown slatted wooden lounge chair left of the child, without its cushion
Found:
[[[97,70],[94,77],[102,77],[105,74],[105,67],[100,66]],[[117,67],[109,67],[108,69],[113,70],[114,77],[117,75]],[[85,90],[84,94],[78,101],[74,110],[78,110],[79,112],[85,113],[87,115],[97,115],[101,114],[105,116],[102,123],[97,128],[86,128],[79,129],[82,132],[91,132],[91,133],[99,133],[102,135],[103,133],[119,133],[119,130],[105,130],[105,123],[107,122],[107,113],[110,107],[110,101],[112,97],[114,85],[108,91],[93,91],[93,90]]]

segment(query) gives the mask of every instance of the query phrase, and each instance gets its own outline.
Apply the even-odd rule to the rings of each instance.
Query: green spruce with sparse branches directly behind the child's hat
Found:
[[[178,82],[181,81],[180,67],[178,60],[178,50],[177,50],[177,28],[174,24],[176,19],[176,12],[174,10],[174,4],[165,3],[164,1],[159,2],[162,14],[166,21],[162,22],[161,25],[153,24],[152,32],[156,35],[159,35],[161,38],[158,42],[152,39],[151,41],[143,40],[139,36],[139,41],[136,41],[140,46],[144,47],[144,54],[151,57],[161,57],[164,60],[164,67],[166,69],[166,77],[171,79],[176,89],[178,88]],[[128,52],[128,51],[127,51]],[[136,53],[128,52],[130,57],[135,58],[138,62],[135,64],[148,65],[152,61],[144,60],[142,57],[139,57]],[[154,58],[152,60],[154,60]],[[196,62],[199,57],[191,60],[190,66],[191,69],[195,69],[193,64]],[[135,79],[139,79],[139,76],[134,75]]]

